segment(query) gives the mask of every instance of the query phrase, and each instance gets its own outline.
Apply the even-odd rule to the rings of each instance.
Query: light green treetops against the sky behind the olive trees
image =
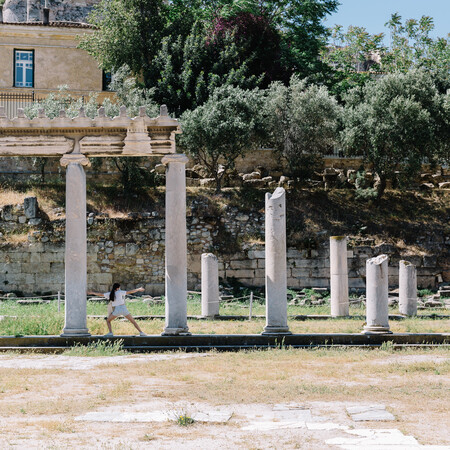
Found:
[[[328,81],[339,98],[351,88],[373,81],[372,72],[407,72],[413,68],[428,70],[441,93],[450,88],[450,35],[433,39],[433,19],[422,16],[404,23],[398,13],[392,14],[385,24],[390,45],[383,43],[384,34],[371,35],[362,27],[341,26],[330,30],[329,45],[322,50],[321,58],[333,67]]]

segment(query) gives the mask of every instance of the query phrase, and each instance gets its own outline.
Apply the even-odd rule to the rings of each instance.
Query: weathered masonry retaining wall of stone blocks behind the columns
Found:
[[[198,212],[205,215],[205,211]],[[250,244],[247,238],[263,236],[263,214],[244,215],[235,208],[228,208],[221,219],[200,219],[195,208],[191,214],[195,215],[187,218],[188,288],[200,289],[201,254],[206,252],[218,256],[222,279],[234,278],[247,286],[263,287],[264,246]],[[1,212],[0,291],[24,294],[64,291],[64,220],[46,222],[30,215],[33,214],[24,211],[23,205],[4,207]],[[165,230],[164,219],[157,212],[120,220],[91,213],[87,223],[90,289],[106,292],[113,282],[119,282],[125,289],[139,285],[153,295],[164,293]],[[8,232],[26,233],[27,229],[26,242],[8,243]],[[418,267],[420,288],[436,287],[442,279],[448,281],[450,238],[439,242],[430,237],[423,239],[427,240],[424,246],[430,249],[429,255],[405,255],[391,245],[374,246],[370,241],[350,240],[349,287],[365,287],[366,259],[382,253],[390,256],[392,286],[398,284],[400,259]],[[290,288],[329,287],[328,238],[317,249],[288,248],[287,276]]]

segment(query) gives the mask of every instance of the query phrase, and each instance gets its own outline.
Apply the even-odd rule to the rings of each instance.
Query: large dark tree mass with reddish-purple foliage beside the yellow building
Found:
[[[322,19],[337,0],[102,0],[98,29],[80,46],[100,66],[126,64],[171,111],[202,104],[218,86],[287,82],[325,68]]]

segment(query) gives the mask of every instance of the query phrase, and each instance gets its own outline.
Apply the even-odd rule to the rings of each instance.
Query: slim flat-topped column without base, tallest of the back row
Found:
[[[331,315],[348,316],[347,238],[330,237]]]

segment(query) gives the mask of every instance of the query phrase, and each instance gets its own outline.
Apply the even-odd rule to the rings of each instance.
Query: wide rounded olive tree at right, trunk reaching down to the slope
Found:
[[[418,69],[389,74],[350,91],[342,143],[350,154],[362,155],[372,164],[380,177],[378,198],[397,170],[407,180],[420,170],[425,158],[445,157],[446,102],[431,75]]]

